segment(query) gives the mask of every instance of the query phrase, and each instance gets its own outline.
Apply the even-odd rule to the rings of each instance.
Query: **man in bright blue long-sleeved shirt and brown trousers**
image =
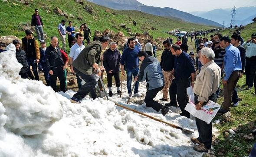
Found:
[[[219,113],[226,113],[230,110],[231,97],[236,84],[240,78],[240,71],[242,70],[242,63],[240,51],[231,44],[231,39],[224,36],[220,39],[220,46],[226,50],[224,56],[224,72],[223,90],[224,90],[224,104]]]

